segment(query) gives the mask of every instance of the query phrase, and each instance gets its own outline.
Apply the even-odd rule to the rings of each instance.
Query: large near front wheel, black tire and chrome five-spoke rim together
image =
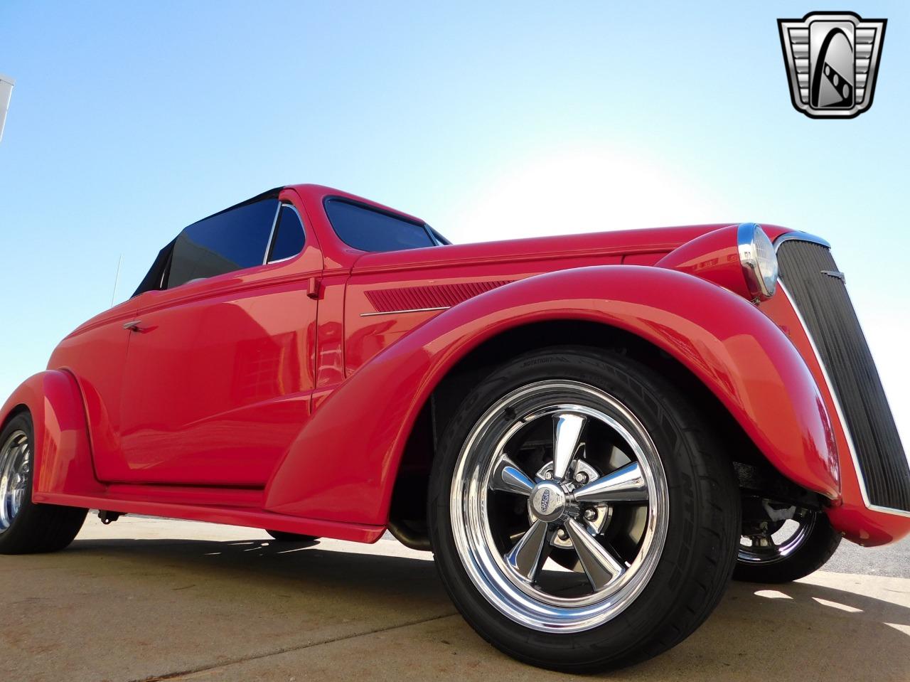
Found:
[[[618,353],[537,351],[462,403],[430,480],[440,575],[481,636],[532,665],[619,667],[723,595],[738,489],[700,416]]]

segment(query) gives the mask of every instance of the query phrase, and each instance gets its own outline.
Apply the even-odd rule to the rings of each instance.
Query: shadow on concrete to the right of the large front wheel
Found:
[[[906,682],[910,607],[804,582],[734,582],[681,646],[618,678],[671,678],[680,671],[697,679]]]

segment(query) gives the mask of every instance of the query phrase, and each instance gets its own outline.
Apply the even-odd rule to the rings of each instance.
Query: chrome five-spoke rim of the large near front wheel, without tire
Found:
[[[450,513],[480,591],[541,631],[590,629],[642,591],[660,558],[669,500],[642,423],[581,382],[510,392],[461,450]]]

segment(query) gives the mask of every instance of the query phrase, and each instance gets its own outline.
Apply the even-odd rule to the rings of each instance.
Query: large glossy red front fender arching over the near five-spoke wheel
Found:
[[[782,473],[838,497],[831,422],[803,359],[773,322],[690,275],[603,266],[482,294],[381,351],[301,431],[268,484],[266,508],[385,524],[410,429],[446,372],[482,341],[548,320],[597,321],[651,341],[705,383]]]

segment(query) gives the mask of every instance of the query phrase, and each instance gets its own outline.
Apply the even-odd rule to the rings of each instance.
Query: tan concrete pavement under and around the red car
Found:
[[[899,568],[898,568],[899,570]],[[504,657],[392,540],[86,521],[56,555],[0,556],[0,670],[27,680],[569,679]],[[910,680],[910,576],[733,584],[672,651],[615,680]]]

